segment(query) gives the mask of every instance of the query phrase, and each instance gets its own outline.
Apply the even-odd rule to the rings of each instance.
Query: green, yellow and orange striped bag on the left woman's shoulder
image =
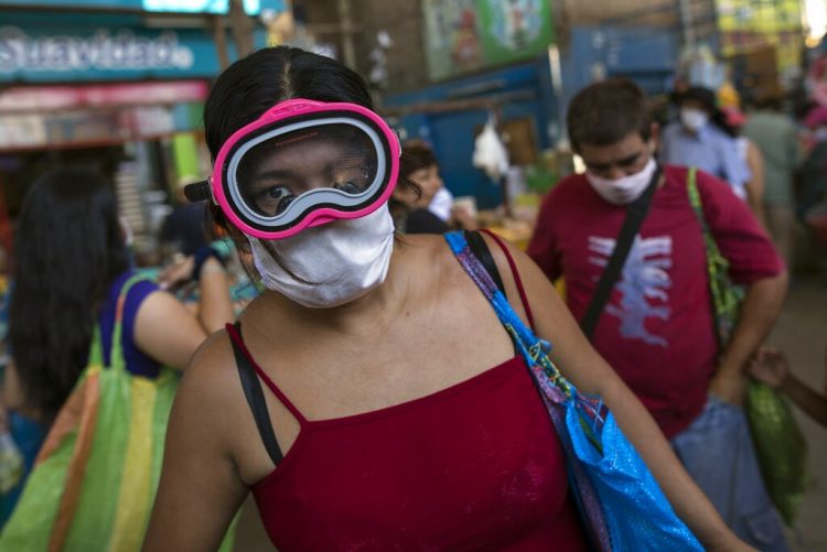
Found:
[[[96,329],[89,364],[50,429],[0,551],[140,550],[179,382],[170,368],[154,379],[127,371],[123,302],[141,279],[120,292],[106,367]],[[232,533],[222,550],[232,550]]]

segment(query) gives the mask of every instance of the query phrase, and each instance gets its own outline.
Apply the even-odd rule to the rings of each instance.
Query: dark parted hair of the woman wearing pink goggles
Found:
[[[227,67],[210,91],[204,105],[204,131],[213,160],[233,132],[292,98],[374,108],[365,80],[341,62],[290,46],[259,50]],[[211,214],[238,250],[249,252],[244,234],[226,220],[221,208],[213,205]],[[266,241],[264,245],[268,246]],[[267,249],[278,260],[276,251]],[[245,268],[255,274],[250,267]]]

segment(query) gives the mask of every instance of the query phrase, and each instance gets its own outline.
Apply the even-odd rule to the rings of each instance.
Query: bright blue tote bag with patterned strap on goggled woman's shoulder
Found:
[[[579,393],[494,283],[462,232],[445,234],[451,250],[482,290],[530,368],[566,452],[569,483],[592,546],[599,551],[702,551],[612,413],[593,397]],[[482,240],[480,240],[482,241]],[[484,243],[483,243],[484,248]],[[497,277],[498,278],[498,277]]]

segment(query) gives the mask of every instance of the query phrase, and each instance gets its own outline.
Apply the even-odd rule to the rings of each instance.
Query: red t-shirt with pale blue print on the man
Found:
[[[598,351],[672,437],[706,402],[716,370],[715,327],[700,224],[689,203],[686,167],[667,166],[594,332]],[[770,238],[722,181],[697,173],[704,214],[733,281],[782,271]],[[603,201],[584,175],[560,182],[544,199],[528,255],[581,320],[626,215]]]

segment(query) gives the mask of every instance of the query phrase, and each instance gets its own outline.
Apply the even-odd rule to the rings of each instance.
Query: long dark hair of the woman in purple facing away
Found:
[[[83,167],[37,178],[14,251],[11,354],[26,407],[51,419],[86,367],[98,305],[129,266],[108,183]]]

